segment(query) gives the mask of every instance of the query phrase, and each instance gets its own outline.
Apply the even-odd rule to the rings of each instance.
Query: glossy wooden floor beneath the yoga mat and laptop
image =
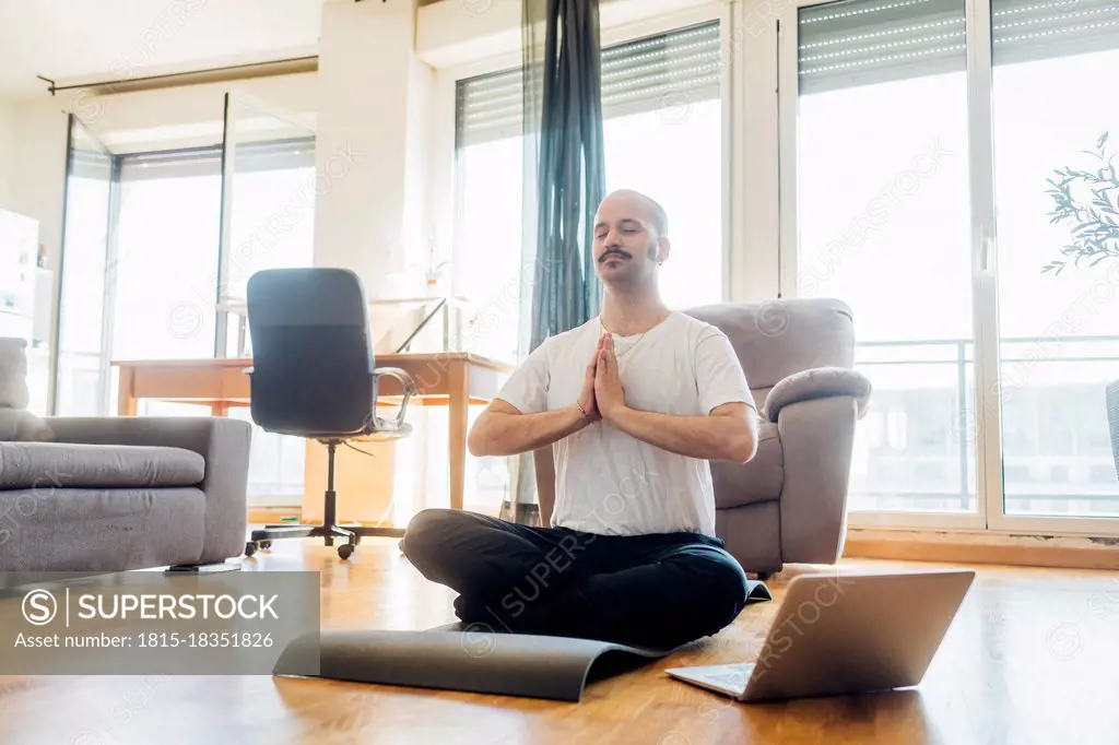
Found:
[[[454,620],[450,591],[424,581],[392,539],[364,540],[348,563],[313,541],[288,541],[245,565],[293,568],[321,570],[325,628],[427,629]],[[677,664],[753,659],[777,607],[764,603],[693,651],[590,685],[580,704],[270,676],[0,676],[0,743],[1116,742],[1119,576],[977,568],[932,669],[911,691],[741,705],[664,675]],[[770,583],[778,597],[796,570],[803,569]]]

